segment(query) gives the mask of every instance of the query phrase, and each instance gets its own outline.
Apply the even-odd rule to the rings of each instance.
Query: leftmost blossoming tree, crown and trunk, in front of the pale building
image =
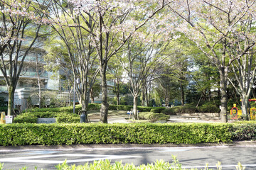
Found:
[[[33,52],[37,40],[47,35],[43,25],[48,1],[0,0],[0,70],[9,93],[8,115],[14,108],[14,91],[23,71],[26,56]]]

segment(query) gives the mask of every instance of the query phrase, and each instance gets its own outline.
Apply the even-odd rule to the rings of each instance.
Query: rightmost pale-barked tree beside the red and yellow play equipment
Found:
[[[253,20],[255,20],[255,18]],[[251,16],[249,16],[247,20],[240,21],[240,31],[243,35],[250,35],[250,33],[255,34],[255,21],[253,20]],[[239,51],[245,50],[245,47],[252,46],[254,43],[255,40],[247,36],[239,36],[237,40],[235,40],[235,45],[230,47],[231,49],[228,51],[229,55],[235,57],[239,55]],[[249,107],[249,97],[252,91],[252,85],[255,82],[255,50],[255,47],[247,50],[245,55],[232,62],[232,74],[235,74],[235,79],[228,78],[242,99],[242,113],[245,114],[247,120],[250,119],[250,115],[247,111]],[[235,86],[234,81],[238,82],[238,86]]]

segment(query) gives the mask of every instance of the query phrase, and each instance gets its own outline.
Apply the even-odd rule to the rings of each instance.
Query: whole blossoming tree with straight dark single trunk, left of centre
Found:
[[[117,54],[129,38],[144,24],[156,15],[169,2],[165,0],[150,1],[96,1],[70,0],[68,5],[86,23],[80,26],[92,36],[92,45],[95,47],[102,78],[102,106],[100,121],[107,123],[107,63]],[[94,28],[90,27],[93,23]]]

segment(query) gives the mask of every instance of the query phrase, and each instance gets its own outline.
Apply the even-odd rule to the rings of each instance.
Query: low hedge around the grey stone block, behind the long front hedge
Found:
[[[79,123],[80,115],[69,112],[26,112],[17,115],[14,123],[37,123],[38,118],[55,118],[56,123]]]

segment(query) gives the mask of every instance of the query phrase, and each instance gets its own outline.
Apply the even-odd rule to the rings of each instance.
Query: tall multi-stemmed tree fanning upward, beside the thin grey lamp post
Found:
[[[61,43],[63,47],[67,48],[73,77],[80,78],[81,84],[75,84],[75,86],[82,104],[82,113],[85,114],[85,122],[88,123],[87,106],[90,91],[100,71],[97,66],[95,46],[92,45],[93,36],[90,34],[95,31],[95,23],[90,17],[84,21],[83,16],[78,15],[69,1],[52,1],[50,11],[48,18],[54,21],[50,26],[63,42]],[[91,32],[87,32],[84,28]]]

